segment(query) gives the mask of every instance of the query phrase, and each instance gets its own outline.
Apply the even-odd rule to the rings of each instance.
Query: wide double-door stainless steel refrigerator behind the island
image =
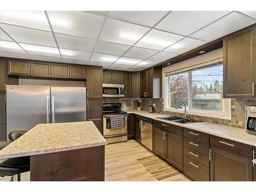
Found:
[[[86,121],[86,88],[7,86],[6,113],[7,138],[39,123]]]

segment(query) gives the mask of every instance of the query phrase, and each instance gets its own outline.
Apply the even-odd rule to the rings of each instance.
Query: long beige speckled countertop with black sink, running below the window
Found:
[[[166,120],[157,118],[157,117],[164,117],[168,115],[159,114],[159,113],[149,113],[147,111],[126,110],[125,112],[137,114],[143,117],[148,117],[158,121],[163,121],[165,123],[186,127],[191,130],[196,130],[196,131],[200,131],[210,135],[215,135],[215,136],[230,139],[233,141],[238,141],[248,145],[256,146],[256,135],[251,135],[246,133],[245,129],[227,126],[227,125],[215,124],[215,123],[208,123],[208,122],[181,124],[174,121],[166,121]]]

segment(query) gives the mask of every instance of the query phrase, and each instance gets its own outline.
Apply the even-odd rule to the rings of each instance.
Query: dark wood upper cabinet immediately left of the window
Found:
[[[140,72],[140,97],[162,97],[162,69],[150,68]]]

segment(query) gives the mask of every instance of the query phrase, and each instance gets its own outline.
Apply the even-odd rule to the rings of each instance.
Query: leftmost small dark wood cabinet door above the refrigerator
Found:
[[[8,59],[8,75],[30,76],[30,60]]]

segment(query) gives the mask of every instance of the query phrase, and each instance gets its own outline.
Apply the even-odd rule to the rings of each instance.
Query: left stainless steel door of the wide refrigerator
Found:
[[[49,86],[6,86],[7,138],[11,131],[28,131],[50,123]]]

